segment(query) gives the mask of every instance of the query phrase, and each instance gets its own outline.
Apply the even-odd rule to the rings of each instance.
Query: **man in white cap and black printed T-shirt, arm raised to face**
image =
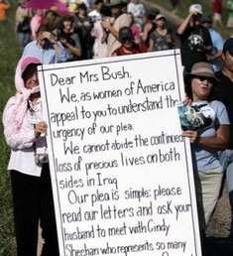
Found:
[[[206,62],[212,51],[210,34],[200,25],[201,15],[201,5],[192,4],[188,16],[176,30],[181,43],[181,61],[186,71],[190,71],[192,64]]]

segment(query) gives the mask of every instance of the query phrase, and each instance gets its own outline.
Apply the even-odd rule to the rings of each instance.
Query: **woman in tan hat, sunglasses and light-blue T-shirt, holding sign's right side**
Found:
[[[218,79],[210,64],[193,64],[184,81],[192,103],[179,107],[178,112],[182,136],[191,143],[199,224],[204,235],[221,188],[223,170],[218,151],[227,145],[229,119],[225,105],[213,100]]]

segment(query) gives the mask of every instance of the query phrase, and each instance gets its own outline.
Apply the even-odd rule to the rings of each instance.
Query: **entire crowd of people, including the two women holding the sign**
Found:
[[[180,43],[185,102],[214,113],[208,127],[182,133],[191,145],[201,238],[224,175],[232,213],[229,237],[233,237],[233,38],[224,42],[214,30],[212,23],[221,23],[221,12],[219,1],[213,2],[213,15],[192,4],[173,31],[164,14],[147,12],[140,0],[70,1],[70,15],[65,16],[56,8],[26,8],[26,0],[19,0],[15,33],[22,58],[15,74],[17,93],[3,113],[4,134],[12,149],[8,169],[18,256],[36,256],[39,220],[45,239],[42,255],[58,255],[37,65],[171,50],[177,48],[175,38]],[[228,2],[231,8],[233,1]],[[176,8],[178,1],[172,3]]]

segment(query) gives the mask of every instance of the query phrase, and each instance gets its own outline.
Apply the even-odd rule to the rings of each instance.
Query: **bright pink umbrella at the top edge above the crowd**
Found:
[[[65,4],[59,2],[58,0],[31,0],[24,5],[26,8],[36,8],[36,9],[51,9],[56,7],[58,12],[62,15],[72,15]]]

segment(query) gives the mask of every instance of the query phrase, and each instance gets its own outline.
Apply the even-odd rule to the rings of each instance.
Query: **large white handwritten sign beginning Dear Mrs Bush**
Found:
[[[179,51],[39,74],[60,255],[201,255]]]

